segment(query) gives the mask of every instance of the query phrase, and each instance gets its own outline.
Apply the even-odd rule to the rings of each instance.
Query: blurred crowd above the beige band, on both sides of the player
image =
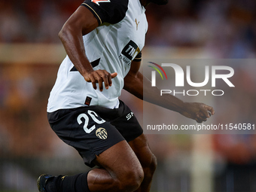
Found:
[[[0,2],[0,42],[59,43],[63,23],[81,0]],[[148,5],[146,45],[203,46],[220,58],[256,55],[254,0],[169,0]]]

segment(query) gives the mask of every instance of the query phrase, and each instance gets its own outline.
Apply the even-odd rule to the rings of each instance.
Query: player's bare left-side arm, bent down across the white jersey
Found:
[[[103,90],[102,82],[105,83],[105,88],[108,89],[108,86],[112,84],[111,78],[117,76],[117,73],[110,74],[105,70],[94,71],[87,59],[83,35],[93,31],[97,26],[99,26],[99,23],[96,17],[88,8],[80,6],[62,27],[59,32],[59,38],[69,59],[78,69],[78,72],[83,75],[85,81],[92,82],[94,89],[96,89],[96,83],[98,83],[99,90]]]

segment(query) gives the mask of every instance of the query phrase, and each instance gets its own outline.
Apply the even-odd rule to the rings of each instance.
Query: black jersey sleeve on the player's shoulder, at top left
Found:
[[[98,20],[99,25],[118,23],[123,20],[129,0],[85,0],[82,6],[88,8]]]

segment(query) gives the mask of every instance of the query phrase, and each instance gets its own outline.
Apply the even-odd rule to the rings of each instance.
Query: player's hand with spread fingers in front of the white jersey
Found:
[[[91,82],[93,84],[93,88],[96,90],[97,86],[96,84],[99,84],[99,90],[103,90],[103,82],[105,85],[105,89],[108,90],[108,87],[112,85],[112,78],[115,78],[117,76],[117,73],[109,73],[105,70],[96,70],[87,72],[86,75],[84,75],[84,79],[87,82]]]

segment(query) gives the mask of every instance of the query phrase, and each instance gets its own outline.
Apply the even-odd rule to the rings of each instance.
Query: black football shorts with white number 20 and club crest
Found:
[[[86,106],[47,113],[51,128],[66,144],[78,150],[84,163],[93,167],[96,155],[117,142],[136,139],[143,133],[133,111],[120,101],[119,108]]]

